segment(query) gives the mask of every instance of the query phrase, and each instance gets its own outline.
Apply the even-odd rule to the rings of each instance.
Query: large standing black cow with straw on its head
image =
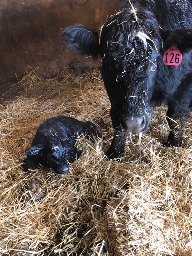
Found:
[[[131,3],[124,1],[99,30],[83,25],[62,30],[63,39],[76,52],[102,58],[101,74],[115,128],[108,151],[111,158],[123,152],[127,132],[146,131],[152,107],[164,102],[168,103],[171,128],[167,143],[181,146],[192,103],[192,2]],[[163,62],[164,52],[172,44],[182,53],[179,66]]]

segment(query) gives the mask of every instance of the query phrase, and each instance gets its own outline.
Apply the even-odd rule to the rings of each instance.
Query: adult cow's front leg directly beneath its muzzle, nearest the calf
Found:
[[[127,131],[124,129],[116,129],[111,146],[107,152],[107,157],[110,159],[117,158],[124,152]]]

